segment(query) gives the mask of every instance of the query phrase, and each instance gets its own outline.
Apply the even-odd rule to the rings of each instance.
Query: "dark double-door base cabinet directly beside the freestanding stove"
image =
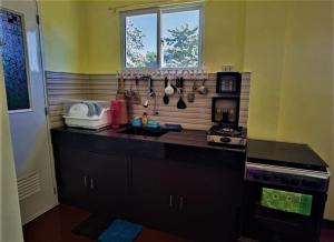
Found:
[[[135,220],[197,241],[235,241],[242,170],[171,160],[132,160]]]

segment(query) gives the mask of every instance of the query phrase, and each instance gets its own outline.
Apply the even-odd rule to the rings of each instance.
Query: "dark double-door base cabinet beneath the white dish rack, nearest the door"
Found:
[[[95,213],[128,216],[128,160],[71,148],[55,149],[59,200]]]

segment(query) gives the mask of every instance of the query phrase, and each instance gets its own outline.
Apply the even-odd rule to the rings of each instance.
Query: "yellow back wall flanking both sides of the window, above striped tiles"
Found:
[[[134,2],[134,1],[131,1]],[[89,73],[115,73],[120,70],[119,12],[110,7],[127,6],[127,2],[90,1],[88,7]],[[244,48],[243,1],[208,1],[204,7],[204,67],[222,70],[223,64],[243,65]],[[217,48],[219,47],[219,48]]]

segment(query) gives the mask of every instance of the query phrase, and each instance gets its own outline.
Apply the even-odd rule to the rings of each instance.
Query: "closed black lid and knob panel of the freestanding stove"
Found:
[[[246,181],[326,192],[330,177],[327,164],[306,144],[248,141]]]

